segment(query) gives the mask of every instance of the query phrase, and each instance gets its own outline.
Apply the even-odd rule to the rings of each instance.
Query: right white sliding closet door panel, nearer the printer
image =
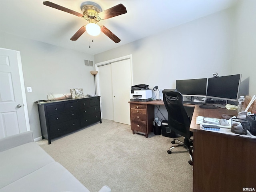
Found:
[[[130,125],[130,90],[132,76],[130,59],[111,64],[115,122]]]

